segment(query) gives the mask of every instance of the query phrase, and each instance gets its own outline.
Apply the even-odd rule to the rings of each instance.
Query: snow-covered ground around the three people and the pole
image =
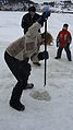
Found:
[[[73,61],[69,62],[63,51],[61,60],[56,60],[56,43],[48,47],[47,85],[44,87],[44,62],[40,68],[32,66],[29,81],[33,90],[23,92],[22,103],[26,109],[19,113],[9,106],[9,99],[16,80],[8,69],[3,52],[7,46],[23,35],[21,19],[23,12],[0,12],[0,130],[72,130],[73,129]],[[73,15],[51,14],[48,31],[53,38],[62,24],[70,24],[73,35]],[[44,28],[41,28],[44,31]],[[73,57],[73,43],[71,45]],[[34,99],[31,94],[47,91],[50,101]]]

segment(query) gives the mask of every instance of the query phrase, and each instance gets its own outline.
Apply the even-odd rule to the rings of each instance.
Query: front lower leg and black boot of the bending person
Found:
[[[17,84],[13,88],[12,96],[10,99],[10,106],[20,111],[23,111],[25,109],[25,106],[22,105],[20,102],[23,92],[22,85],[22,83],[17,82]]]

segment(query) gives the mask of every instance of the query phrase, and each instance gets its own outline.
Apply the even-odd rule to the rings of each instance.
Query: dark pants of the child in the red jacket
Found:
[[[58,48],[57,58],[61,58],[62,50],[63,50],[63,48],[61,48],[61,47]],[[66,52],[68,60],[71,61],[71,51],[70,51],[70,48],[66,47],[66,48],[64,48],[64,50]]]

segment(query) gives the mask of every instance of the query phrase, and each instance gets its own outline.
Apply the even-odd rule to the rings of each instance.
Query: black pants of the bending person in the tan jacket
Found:
[[[28,63],[28,59],[20,61],[11,57],[7,51],[4,52],[4,60],[17,80],[17,83],[13,88],[11,99],[13,102],[20,102],[23,87],[27,85],[27,80],[31,74],[31,64]]]

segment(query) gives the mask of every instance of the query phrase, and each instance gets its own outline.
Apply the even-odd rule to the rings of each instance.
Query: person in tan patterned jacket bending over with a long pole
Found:
[[[29,86],[27,87],[27,81],[32,68],[28,60],[29,57],[38,49],[38,29],[40,29],[41,24],[48,16],[50,16],[50,11],[46,10],[37,22],[28,28],[28,32],[20,39],[10,44],[4,52],[4,60],[17,80],[17,83],[12,91],[10,106],[20,111],[25,109],[25,106],[21,103],[23,90],[29,88]],[[45,37],[41,36],[39,37],[39,44],[42,42],[45,42]],[[48,52],[39,52],[37,58],[38,60],[48,59]],[[31,88],[33,86],[31,86]]]

